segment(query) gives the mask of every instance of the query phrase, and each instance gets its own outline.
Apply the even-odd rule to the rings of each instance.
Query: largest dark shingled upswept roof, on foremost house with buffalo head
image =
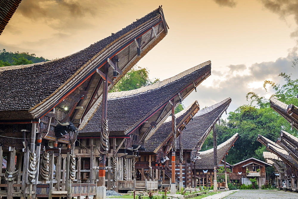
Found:
[[[120,60],[117,66],[123,72],[114,79],[114,84],[117,83],[166,34],[162,8],[157,8],[119,32],[72,55],[42,63],[1,67],[0,119],[36,119],[44,116],[77,87],[92,81],[94,75],[99,76],[96,70],[102,70],[108,58],[115,55]],[[139,38],[142,51],[137,56],[135,39]],[[112,69],[109,69],[108,77],[113,79]],[[111,87],[110,84],[109,89]],[[82,111],[81,116],[85,111],[85,117],[79,129],[97,111],[101,94],[102,89],[92,88],[88,91],[86,103],[90,102],[92,106]]]

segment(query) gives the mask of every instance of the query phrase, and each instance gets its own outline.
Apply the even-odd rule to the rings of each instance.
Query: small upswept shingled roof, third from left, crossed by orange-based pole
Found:
[[[187,117],[192,114],[196,114],[199,110],[198,102],[195,101],[187,108],[184,108],[176,116],[176,127],[179,128],[183,122],[186,121]],[[159,149],[172,137],[172,116],[169,116],[162,125],[156,130],[156,132],[147,140],[144,144],[147,152],[157,153]]]

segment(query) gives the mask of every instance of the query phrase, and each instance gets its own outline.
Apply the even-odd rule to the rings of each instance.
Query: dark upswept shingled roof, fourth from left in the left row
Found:
[[[182,132],[182,148],[184,150],[194,150],[195,147],[198,147],[198,150],[201,149],[205,139],[212,130],[213,124],[219,120],[220,116],[224,113],[224,111],[226,111],[231,101],[231,98],[226,98],[215,105],[198,111],[192,121],[188,123]],[[178,138],[177,149],[179,148]]]

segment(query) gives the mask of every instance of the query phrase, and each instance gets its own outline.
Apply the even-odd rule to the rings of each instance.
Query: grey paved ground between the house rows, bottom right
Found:
[[[215,194],[214,196],[216,196]],[[280,190],[266,190],[266,189],[257,189],[257,190],[237,190],[230,195],[225,197],[226,199],[234,198],[245,198],[245,199],[272,199],[272,198],[288,198],[288,199],[298,199],[298,193],[296,192],[285,192]]]

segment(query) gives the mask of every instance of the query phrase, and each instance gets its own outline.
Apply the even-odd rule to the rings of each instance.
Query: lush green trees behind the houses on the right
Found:
[[[269,84],[274,89],[272,95],[286,104],[298,105],[298,79],[292,80],[291,75],[281,73],[286,83],[278,85],[274,82],[265,80],[264,88]],[[250,92],[246,95],[247,100],[251,100],[248,105],[242,105],[235,111],[229,113],[227,120],[221,119],[220,125],[216,125],[218,135],[218,144],[225,142],[235,133],[239,133],[239,138],[229,150],[226,161],[235,164],[248,158],[257,158],[264,161],[263,151],[265,146],[257,142],[257,135],[260,134],[266,138],[276,141],[280,137],[280,130],[284,130],[297,136],[297,130],[291,130],[291,125],[276,111],[270,108],[269,99],[260,97]],[[257,102],[256,106],[252,102]],[[213,148],[212,133],[207,137],[202,150]]]

